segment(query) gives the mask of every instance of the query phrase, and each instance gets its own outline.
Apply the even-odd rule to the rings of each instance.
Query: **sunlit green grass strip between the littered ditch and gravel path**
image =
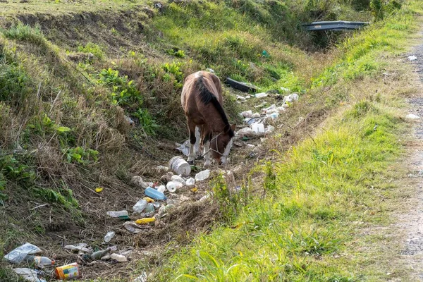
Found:
[[[373,267],[377,258],[369,262],[361,247],[385,240],[369,240],[363,233],[389,222],[398,195],[391,182],[398,173],[389,168],[403,152],[399,139],[407,123],[399,111],[400,94],[410,87],[406,67],[393,59],[405,51],[421,13],[421,4],[409,1],[343,44],[336,63],[302,97],[338,114],[314,137],[260,165],[263,185],[243,190],[266,196],[252,196],[228,223],[169,256],[154,271],[157,281],[388,278],[384,267]],[[226,190],[222,183],[214,188]]]

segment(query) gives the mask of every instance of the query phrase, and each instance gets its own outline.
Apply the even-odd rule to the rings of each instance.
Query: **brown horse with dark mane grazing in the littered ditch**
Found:
[[[229,125],[223,110],[222,86],[213,73],[199,71],[185,78],[180,97],[190,131],[190,154],[193,161],[200,148],[204,146],[204,166],[210,166],[209,151],[220,164],[226,164],[232,147],[235,124]]]

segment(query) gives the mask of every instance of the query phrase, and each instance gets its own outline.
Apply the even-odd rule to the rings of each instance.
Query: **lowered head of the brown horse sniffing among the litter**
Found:
[[[227,126],[223,132],[212,138],[210,148],[212,149],[212,157],[216,160],[219,166],[226,164],[228,161],[229,151],[232,147],[232,138],[234,135],[235,124]]]

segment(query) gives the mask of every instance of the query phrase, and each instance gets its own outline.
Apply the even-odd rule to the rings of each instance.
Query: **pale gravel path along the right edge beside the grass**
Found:
[[[401,187],[411,192],[403,202],[403,211],[396,214],[394,233],[403,238],[403,243],[397,259],[392,262],[398,276],[389,281],[423,281],[423,32],[419,42],[407,54],[417,57],[411,63],[418,74],[417,92],[407,98],[407,114],[415,114],[419,119],[413,122],[412,137],[406,146],[409,152],[405,160],[407,179],[401,181]]]

